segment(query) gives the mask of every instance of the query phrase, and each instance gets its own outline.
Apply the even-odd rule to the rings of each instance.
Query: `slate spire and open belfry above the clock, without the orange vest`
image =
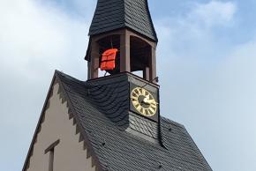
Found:
[[[109,74],[143,71],[143,78],[156,78],[157,36],[147,0],[99,0],[89,31],[88,79],[98,78],[102,53],[117,48],[116,67]]]

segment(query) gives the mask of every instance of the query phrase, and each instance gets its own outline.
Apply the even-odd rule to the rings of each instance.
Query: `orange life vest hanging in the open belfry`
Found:
[[[101,71],[109,71],[116,68],[117,51],[117,48],[110,48],[102,54]]]

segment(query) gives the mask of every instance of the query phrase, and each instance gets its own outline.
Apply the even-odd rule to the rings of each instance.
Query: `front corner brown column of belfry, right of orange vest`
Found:
[[[124,29],[120,35],[120,71],[131,71],[130,33]]]

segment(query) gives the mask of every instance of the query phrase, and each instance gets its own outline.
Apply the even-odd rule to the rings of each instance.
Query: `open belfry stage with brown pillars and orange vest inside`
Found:
[[[154,82],[155,47],[156,42],[128,29],[93,36],[86,56],[88,79],[127,71]]]

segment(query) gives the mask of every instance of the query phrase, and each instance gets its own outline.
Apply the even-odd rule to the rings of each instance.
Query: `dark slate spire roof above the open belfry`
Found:
[[[98,0],[89,35],[124,27],[157,41],[147,0]]]

